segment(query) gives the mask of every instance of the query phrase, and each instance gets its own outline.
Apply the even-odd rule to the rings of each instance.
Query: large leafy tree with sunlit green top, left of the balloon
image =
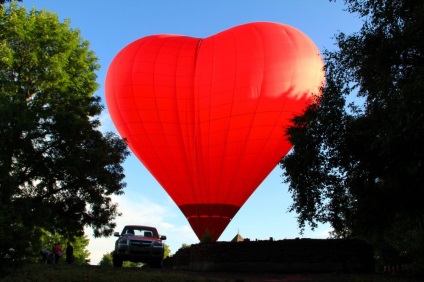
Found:
[[[129,151],[99,131],[97,58],[69,21],[11,3],[0,10],[0,265],[34,231],[110,235]],[[35,216],[34,216],[35,215]]]

